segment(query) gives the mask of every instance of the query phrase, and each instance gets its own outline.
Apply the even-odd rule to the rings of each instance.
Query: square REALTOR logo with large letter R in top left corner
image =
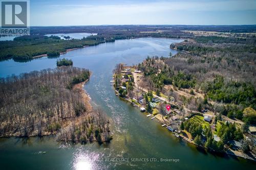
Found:
[[[27,35],[29,27],[29,1],[1,1],[1,35]],[[15,29],[14,29],[15,28]]]

